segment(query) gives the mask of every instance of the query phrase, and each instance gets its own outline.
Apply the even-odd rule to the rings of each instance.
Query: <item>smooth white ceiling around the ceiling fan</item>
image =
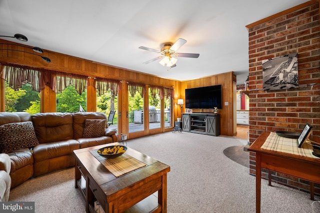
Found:
[[[0,37],[29,46],[85,58],[163,78],[190,80],[234,71],[237,84],[248,75],[248,31],[245,25],[307,0],[0,0]],[[177,52],[199,53],[177,58],[167,70],[160,49],[178,38]],[[162,45],[161,45],[162,44]]]

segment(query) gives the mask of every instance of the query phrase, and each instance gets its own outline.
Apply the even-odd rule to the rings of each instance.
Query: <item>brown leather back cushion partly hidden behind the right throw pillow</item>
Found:
[[[86,119],[103,119],[106,115],[101,112],[75,112],[73,116],[73,139],[82,138]],[[107,128],[107,126],[105,127]]]

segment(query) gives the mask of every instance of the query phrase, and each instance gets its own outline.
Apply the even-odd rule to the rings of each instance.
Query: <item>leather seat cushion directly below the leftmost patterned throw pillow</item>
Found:
[[[10,173],[13,173],[14,171],[26,165],[33,164],[33,156],[28,148],[16,150],[14,152],[8,153],[8,155],[10,156],[11,160]]]

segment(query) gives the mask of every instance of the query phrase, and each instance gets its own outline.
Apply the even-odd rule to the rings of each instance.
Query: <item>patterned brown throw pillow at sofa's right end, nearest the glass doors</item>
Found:
[[[104,136],[105,119],[85,119],[83,138],[97,138]]]

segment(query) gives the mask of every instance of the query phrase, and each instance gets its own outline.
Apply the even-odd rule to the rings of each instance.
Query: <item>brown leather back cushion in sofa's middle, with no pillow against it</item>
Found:
[[[73,138],[71,113],[36,113],[32,123],[39,144]]]

